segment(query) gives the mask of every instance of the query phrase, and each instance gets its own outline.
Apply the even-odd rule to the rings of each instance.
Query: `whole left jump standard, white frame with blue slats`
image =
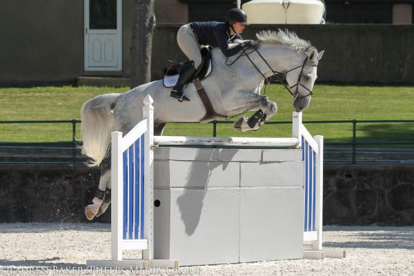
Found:
[[[144,119],[127,135],[112,132],[112,261],[122,261],[123,250],[144,250],[143,259],[153,259],[153,154],[146,146],[153,144],[152,102],[147,96]]]

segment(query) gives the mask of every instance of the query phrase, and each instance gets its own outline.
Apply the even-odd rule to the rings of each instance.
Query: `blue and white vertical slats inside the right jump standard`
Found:
[[[316,155],[317,152],[302,137],[302,160],[305,166],[305,232],[315,231]]]

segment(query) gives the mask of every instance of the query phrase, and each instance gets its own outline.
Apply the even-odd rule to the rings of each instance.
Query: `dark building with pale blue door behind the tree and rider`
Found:
[[[413,3],[326,0],[326,19],[411,23]],[[0,86],[76,83],[79,77],[114,77],[128,84],[133,5],[133,0],[1,0]],[[155,0],[153,56],[161,55],[152,60],[162,61],[154,70],[166,55],[182,58],[175,42],[179,24],[222,21],[235,6],[235,0]]]

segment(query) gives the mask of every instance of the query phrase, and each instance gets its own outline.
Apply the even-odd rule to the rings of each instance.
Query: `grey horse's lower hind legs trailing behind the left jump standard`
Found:
[[[110,204],[110,155],[101,162],[101,178],[92,204],[85,207],[86,218],[92,220],[106,211]]]

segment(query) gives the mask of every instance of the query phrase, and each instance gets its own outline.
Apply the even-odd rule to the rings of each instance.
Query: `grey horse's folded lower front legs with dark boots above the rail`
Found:
[[[276,115],[277,104],[274,101],[270,101],[268,97],[262,96],[259,103],[259,110],[248,118],[243,116],[239,118],[233,124],[233,128],[239,131],[258,130],[270,117]]]

